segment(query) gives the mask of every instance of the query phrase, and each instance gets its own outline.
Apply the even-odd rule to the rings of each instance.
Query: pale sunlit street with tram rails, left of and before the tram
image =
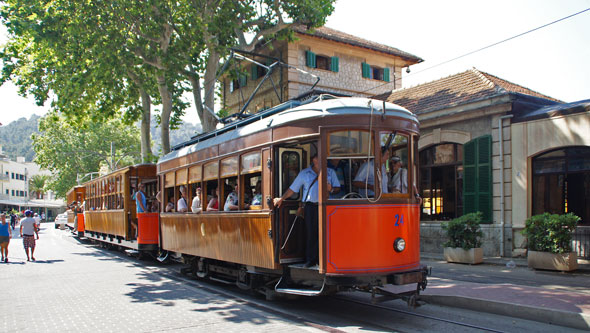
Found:
[[[414,310],[400,300],[377,308],[359,292],[266,301],[233,286],[190,280],[179,265],[79,242],[52,223],[42,224],[37,261],[27,262],[15,231],[10,262],[0,264],[6,286],[1,332],[575,331],[428,304]]]

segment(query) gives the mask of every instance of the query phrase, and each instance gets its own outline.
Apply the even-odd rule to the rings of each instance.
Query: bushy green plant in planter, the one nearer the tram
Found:
[[[469,213],[443,223],[442,228],[449,240],[444,244],[444,257],[447,262],[480,264],[483,262],[481,248],[482,232],[479,226],[482,213]]]

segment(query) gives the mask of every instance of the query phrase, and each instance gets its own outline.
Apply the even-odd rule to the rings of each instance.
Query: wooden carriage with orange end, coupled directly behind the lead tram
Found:
[[[83,184],[87,238],[135,250],[158,249],[158,213],[137,213],[132,198],[139,183],[146,186],[148,203],[155,200],[154,164],[129,166]],[[138,226],[137,232],[135,226]]]

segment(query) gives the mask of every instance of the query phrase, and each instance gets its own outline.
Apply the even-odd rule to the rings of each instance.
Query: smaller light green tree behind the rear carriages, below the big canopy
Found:
[[[95,122],[86,119],[79,124],[68,123],[55,112],[39,122],[39,131],[33,135],[35,162],[53,174],[46,184],[59,197],[76,185],[76,176],[99,170],[101,162],[111,164],[111,142],[115,143],[115,168],[121,160],[140,161],[139,130],[121,120]]]

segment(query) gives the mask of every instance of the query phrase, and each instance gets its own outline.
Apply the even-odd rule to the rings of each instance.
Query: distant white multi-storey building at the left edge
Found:
[[[50,175],[49,171],[41,170],[37,164],[26,162],[24,157],[10,160],[0,146],[0,211],[31,209],[45,214],[47,220],[53,220],[58,213],[63,212],[64,201],[55,198],[52,191],[41,194],[39,198],[31,196],[29,181],[38,174]]]

